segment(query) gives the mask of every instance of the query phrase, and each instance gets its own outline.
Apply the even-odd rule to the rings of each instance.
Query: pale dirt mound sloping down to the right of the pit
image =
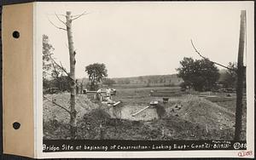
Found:
[[[196,96],[187,96],[177,101],[175,105],[166,108],[166,112],[191,123],[204,124],[203,127],[208,130],[230,129],[235,122],[232,111]]]

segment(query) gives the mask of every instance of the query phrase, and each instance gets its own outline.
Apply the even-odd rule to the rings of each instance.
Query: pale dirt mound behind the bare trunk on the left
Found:
[[[55,119],[58,122],[68,123],[69,113],[60,106],[70,109],[70,94],[45,94],[43,102],[44,121]],[[56,106],[53,101],[60,105]],[[76,96],[76,110],[78,111],[78,119],[82,118],[85,113],[95,109],[97,105],[92,103],[86,95],[79,94]]]

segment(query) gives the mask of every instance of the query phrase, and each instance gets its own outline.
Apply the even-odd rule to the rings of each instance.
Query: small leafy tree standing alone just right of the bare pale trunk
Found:
[[[89,76],[90,90],[96,90],[98,88],[98,83],[102,82],[102,78],[108,77],[108,70],[103,63],[94,63],[89,66],[85,66],[85,71]]]

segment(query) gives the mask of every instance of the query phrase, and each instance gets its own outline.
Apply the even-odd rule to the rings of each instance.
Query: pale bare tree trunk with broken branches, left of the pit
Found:
[[[70,134],[71,139],[75,139],[76,135],[76,117],[77,111],[75,109],[76,105],[76,83],[75,83],[75,53],[73,47],[73,32],[72,32],[72,17],[71,12],[67,11],[67,41],[68,41],[68,49],[69,49],[69,63],[70,63],[70,73],[69,76],[72,78],[71,83],[71,94],[70,94]]]

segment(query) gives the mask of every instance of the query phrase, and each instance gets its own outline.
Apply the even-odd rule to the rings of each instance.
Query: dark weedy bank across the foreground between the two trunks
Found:
[[[90,140],[231,140],[229,129],[213,129],[169,115],[152,121],[111,118],[103,109],[84,115],[78,122],[78,139]]]

